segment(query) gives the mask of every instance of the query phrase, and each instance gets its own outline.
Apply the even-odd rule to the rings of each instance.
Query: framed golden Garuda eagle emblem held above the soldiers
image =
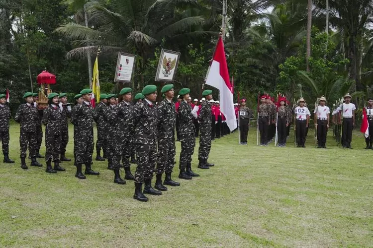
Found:
[[[173,82],[178,69],[179,58],[179,52],[162,49],[155,80]]]

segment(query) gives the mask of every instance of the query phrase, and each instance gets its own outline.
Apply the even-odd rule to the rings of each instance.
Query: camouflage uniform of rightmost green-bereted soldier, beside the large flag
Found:
[[[202,103],[198,116],[199,121],[199,148],[198,159],[207,160],[211,149],[211,104],[208,101]]]

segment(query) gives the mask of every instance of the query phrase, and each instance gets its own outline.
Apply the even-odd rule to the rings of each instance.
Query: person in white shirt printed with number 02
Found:
[[[309,121],[309,110],[307,107],[304,107],[305,101],[303,98],[298,100],[299,106],[295,108],[295,129],[296,129],[296,147],[305,147],[306,142],[306,131]]]

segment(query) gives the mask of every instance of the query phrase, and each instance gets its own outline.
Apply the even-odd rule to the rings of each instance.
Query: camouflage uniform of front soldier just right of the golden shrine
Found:
[[[60,160],[62,128],[64,123],[64,115],[58,106],[49,105],[44,110],[42,123],[45,125],[45,161]]]

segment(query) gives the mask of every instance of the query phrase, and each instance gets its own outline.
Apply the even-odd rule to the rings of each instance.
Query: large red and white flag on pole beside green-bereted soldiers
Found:
[[[227,119],[227,125],[232,131],[237,128],[236,114],[233,105],[232,85],[229,80],[227,60],[225,58],[224,44],[221,37],[216,44],[214,57],[208,71],[206,84],[220,91],[220,111]]]

